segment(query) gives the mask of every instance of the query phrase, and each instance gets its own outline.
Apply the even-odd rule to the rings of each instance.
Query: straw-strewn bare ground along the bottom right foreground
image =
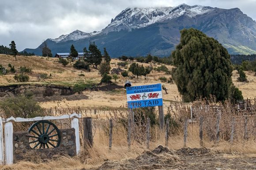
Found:
[[[153,151],[143,152],[135,159],[106,161],[97,170],[152,170],[152,169],[189,169],[189,170],[222,170],[240,169],[255,170],[256,155],[218,153],[206,148],[182,148],[169,150],[158,146]]]

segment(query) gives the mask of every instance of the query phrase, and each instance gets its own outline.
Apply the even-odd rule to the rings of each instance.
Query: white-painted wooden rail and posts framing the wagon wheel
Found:
[[[45,117],[34,117],[34,118],[14,118],[10,117],[8,119],[2,119],[0,117],[0,165],[13,164],[13,122],[33,122],[38,120],[56,120],[56,119],[72,119],[71,127],[75,129],[75,145],[76,154],[80,151],[80,141],[79,141],[79,118],[81,114],[73,113],[71,115],[62,116],[45,116]],[[3,123],[4,132],[3,132]],[[5,155],[4,155],[5,154]]]

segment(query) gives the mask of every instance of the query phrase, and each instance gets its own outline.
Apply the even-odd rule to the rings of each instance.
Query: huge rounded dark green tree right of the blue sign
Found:
[[[217,40],[196,29],[181,30],[181,42],[172,53],[173,80],[184,101],[229,97],[232,65],[227,50]]]

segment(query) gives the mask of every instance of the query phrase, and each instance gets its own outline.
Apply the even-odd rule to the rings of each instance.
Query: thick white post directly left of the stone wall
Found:
[[[4,125],[4,143],[5,143],[5,163],[13,164],[13,126],[12,122],[7,122]]]

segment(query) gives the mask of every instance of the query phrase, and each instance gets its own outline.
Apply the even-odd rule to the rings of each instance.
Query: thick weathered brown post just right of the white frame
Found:
[[[93,146],[93,135],[92,135],[92,119],[91,117],[83,118],[83,146]]]

